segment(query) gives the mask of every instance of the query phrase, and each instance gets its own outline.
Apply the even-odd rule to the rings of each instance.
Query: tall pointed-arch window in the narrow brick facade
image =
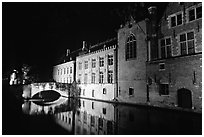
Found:
[[[137,56],[137,42],[133,34],[131,34],[126,42],[126,60],[136,58]]]

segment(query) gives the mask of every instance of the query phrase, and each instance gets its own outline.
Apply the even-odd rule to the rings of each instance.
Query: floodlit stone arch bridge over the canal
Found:
[[[54,90],[60,93],[61,96],[68,97],[69,93],[69,84],[55,83],[55,82],[47,82],[47,83],[33,83],[30,85],[25,85],[23,87],[23,97],[31,98],[35,94],[44,91],[44,90]]]

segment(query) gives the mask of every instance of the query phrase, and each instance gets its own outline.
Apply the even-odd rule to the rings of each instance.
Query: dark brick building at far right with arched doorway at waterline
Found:
[[[150,104],[201,111],[202,3],[169,3],[155,26],[158,44],[150,45],[147,62]]]

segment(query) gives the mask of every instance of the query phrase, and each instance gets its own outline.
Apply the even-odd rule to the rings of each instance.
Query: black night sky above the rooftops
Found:
[[[117,37],[124,9],[134,3],[2,3],[3,73],[28,64],[50,75],[66,53]],[[145,3],[144,6],[166,4]]]

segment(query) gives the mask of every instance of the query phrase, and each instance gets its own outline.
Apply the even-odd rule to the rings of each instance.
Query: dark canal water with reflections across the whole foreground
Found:
[[[22,101],[3,85],[2,133],[11,135],[202,134],[202,114],[59,98],[51,104]]]

